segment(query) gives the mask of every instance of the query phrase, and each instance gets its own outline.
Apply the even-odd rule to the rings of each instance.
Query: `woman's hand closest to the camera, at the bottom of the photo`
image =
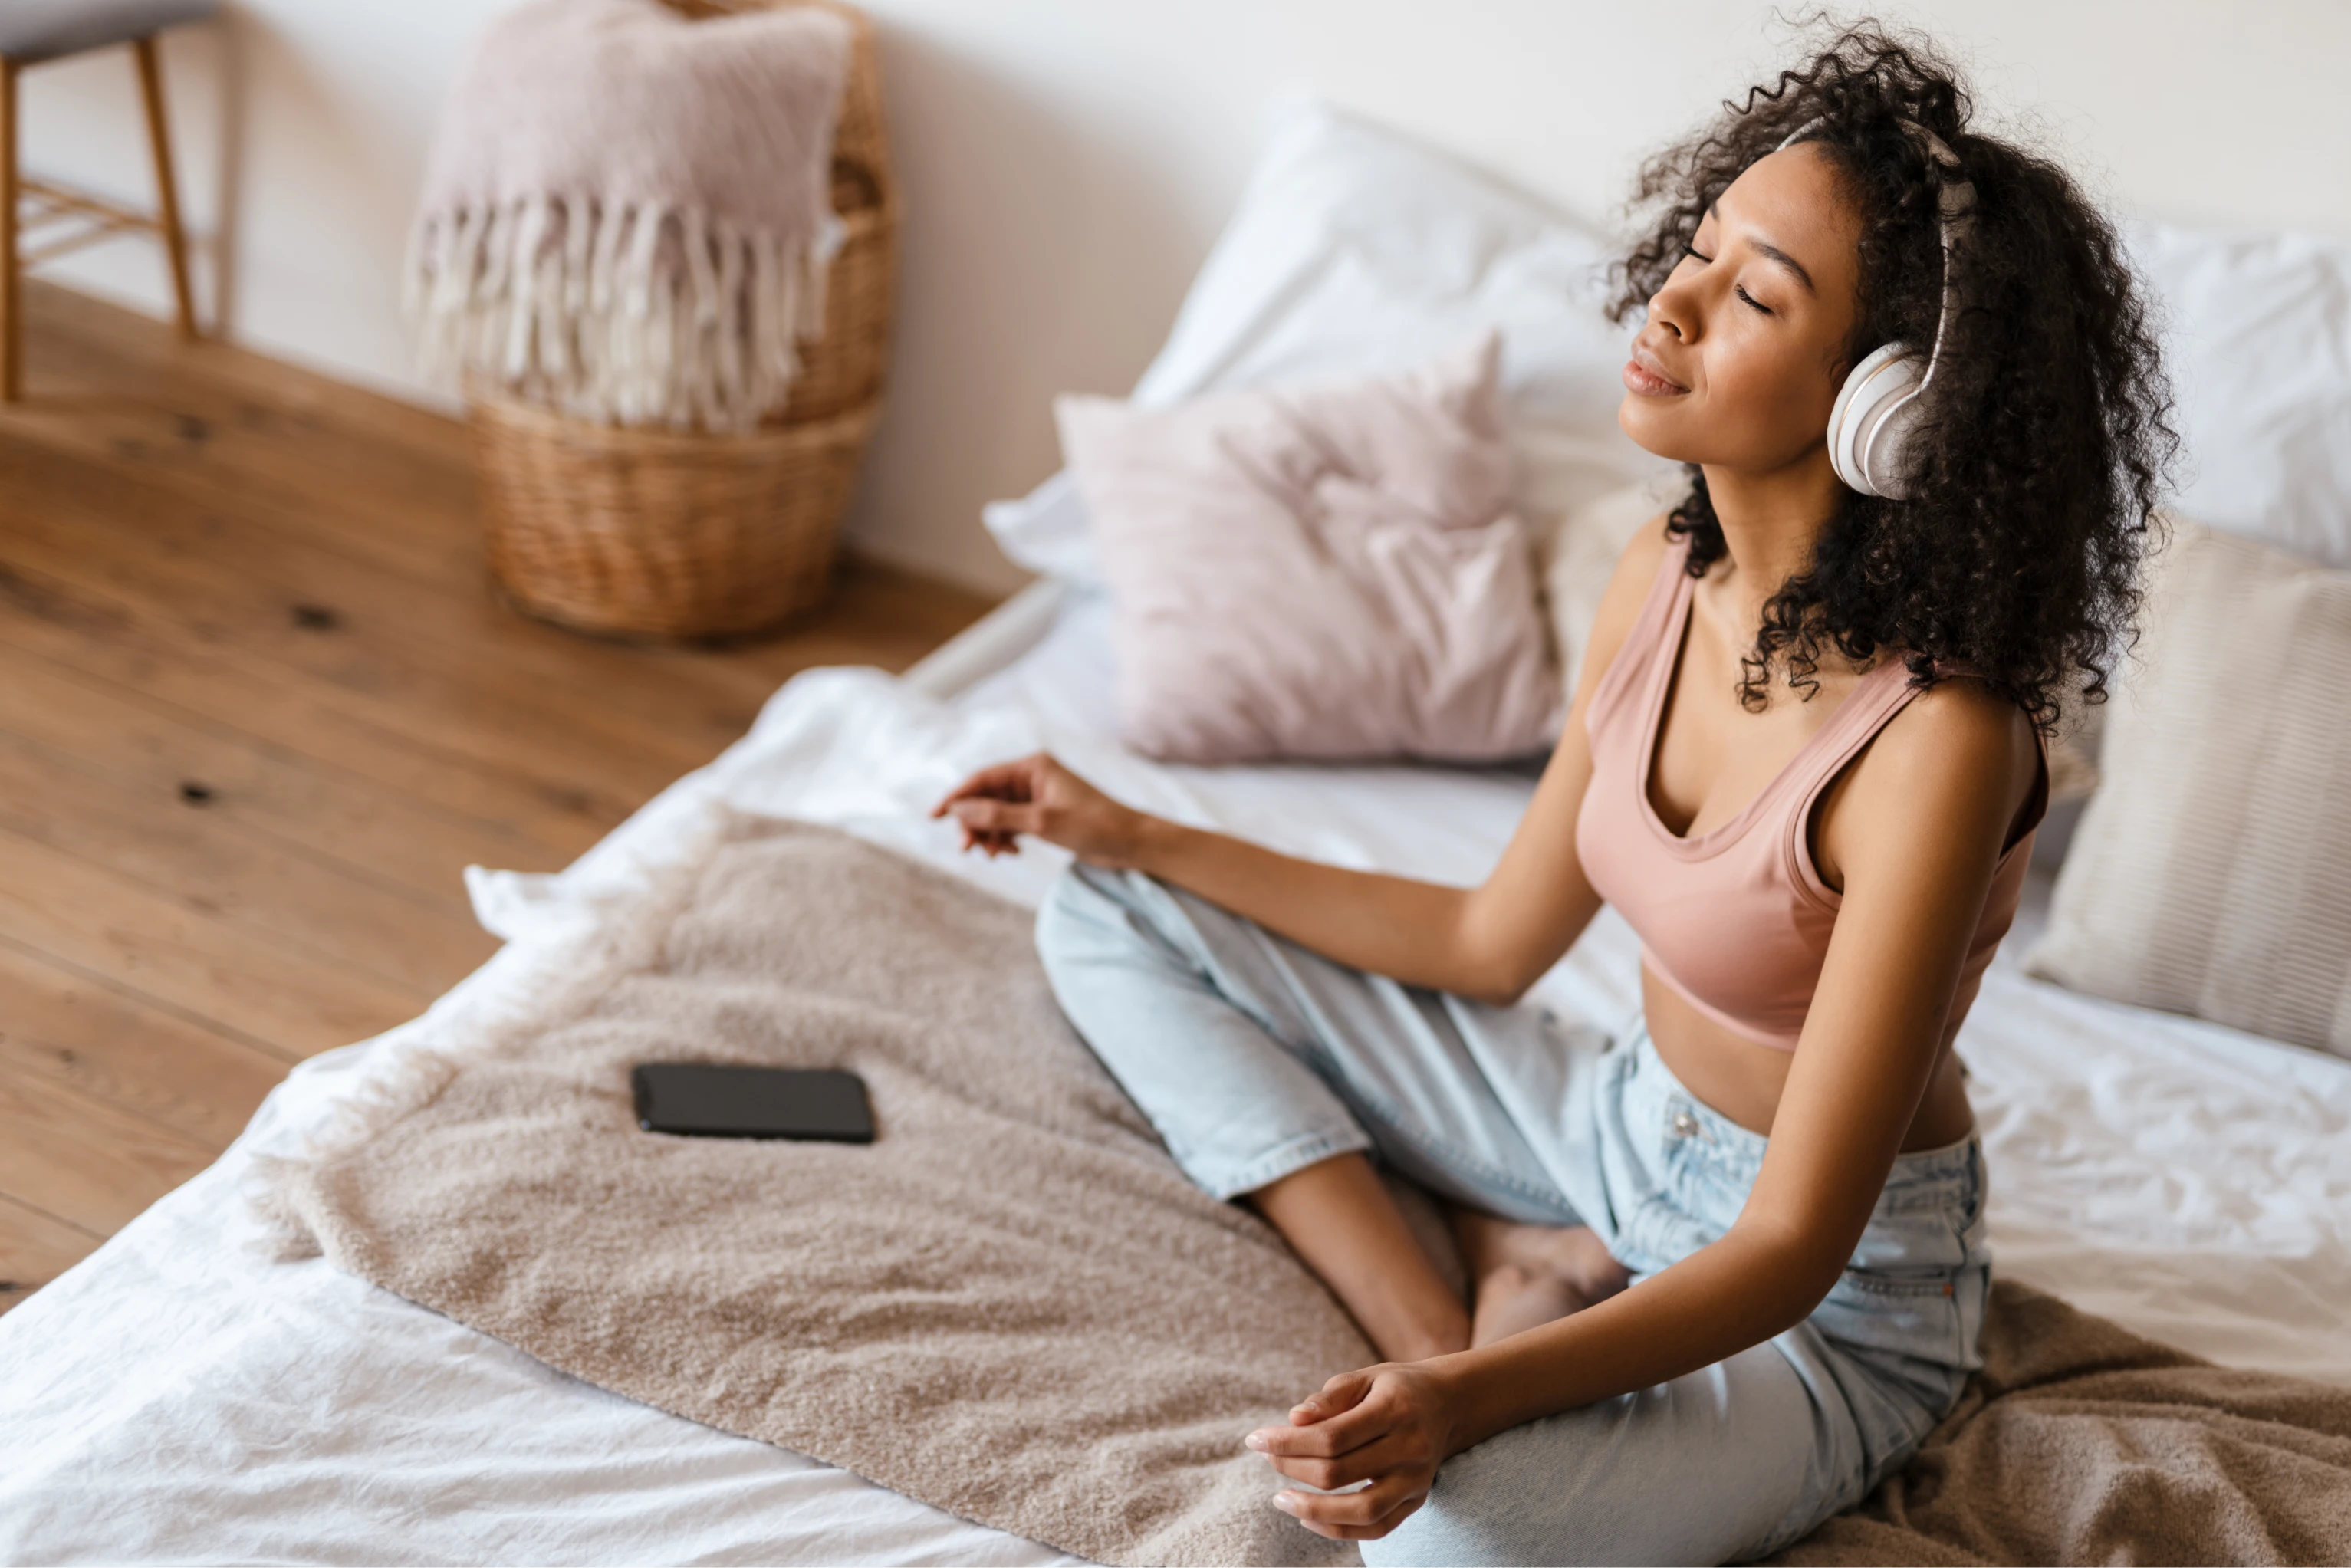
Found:
[[[1429,1500],[1436,1467],[1453,1453],[1453,1385],[1429,1361],[1366,1366],[1340,1373],[1302,1406],[1288,1427],[1262,1427],[1248,1446],[1291,1481],[1274,1507],[1331,1540],[1378,1540]],[[1352,1493],[1340,1486],[1371,1481]]]

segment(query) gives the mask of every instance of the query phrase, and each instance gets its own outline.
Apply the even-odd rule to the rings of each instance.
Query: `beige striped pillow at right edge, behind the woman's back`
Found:
[[[2351,571],[2175,524],[2027,973],[2351,1056]]]

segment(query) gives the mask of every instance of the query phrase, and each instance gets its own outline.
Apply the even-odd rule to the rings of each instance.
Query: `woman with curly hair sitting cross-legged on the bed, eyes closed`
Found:
[[[1980,1366],[1951,1041],[2172,437],[2111,228],[1968,113],[1930,52],[1855,28],[1643,172],[1620,423],[1690,491],[1617,564],[1483,886],[1178,827],[1051,757],[940,802],[966,846],[1074,851],[1039,917],[1072,1023],[1387,1356],[1248,1436],[1300,1483],[1274,1505],[1371,1563],[1761,1556]],[[1824,444],[1895,341],[1940,343],[1878,468],[1902,501]],[[1641,1013],[1516,1006],[1603,900],[1643,938]],[[1453,1206],[1474,1307],[1373,1157]]]

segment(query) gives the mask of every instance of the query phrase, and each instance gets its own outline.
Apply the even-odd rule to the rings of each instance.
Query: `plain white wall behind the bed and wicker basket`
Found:
[[[230,331],[395,395],[433,113],[510,0],[245,0],[167,47],[200,292]],[[1759,0],[872,0],[907,200],[898,355],[851,538],[1011,585],[978,508],[1056,465],[1049,400],[1124,390],[1248,169],[1317,92],[1594,221],[1641,150],[1787,54]],[[2116,209],[2351,237],[2351,5],[1925,0],[1914,19]],[[146,193],[127,56],[26,78],[28,167]],[[59,268],[162,308],[150,247]]]

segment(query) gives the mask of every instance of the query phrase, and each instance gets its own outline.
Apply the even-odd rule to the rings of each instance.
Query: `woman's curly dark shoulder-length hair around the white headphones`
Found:
[[[1909,498],[1841,491],[1810,569],[1763,609],[1740,682],[1747,708],[1768,705],[1775,663],[1813,696],[1822,646],[1850,661],[1888,649],[1911,684],[1956,665],[2052,731],[2069,686],[2104,701],[2106,668],[2132,637],[2139,559],[2179,447],[2151,313],[2114,226],[2064,169],[1970,129],[1972,108],[1933,45],[1857,21],[1641,167],[1634,209],[1655,226],[1617,266],[1610,320],[1648,303],[1747,165],[1817,120],[1806,141],[1834,158],[1862,214],[1846,367],[1895,339],[1930,343],[1942,313],[1935,172],[1902,120],[1935,132],[1975,183]],[[1690,538],[1690,576],[1723,557],[1695,463],[1667,529]]]

